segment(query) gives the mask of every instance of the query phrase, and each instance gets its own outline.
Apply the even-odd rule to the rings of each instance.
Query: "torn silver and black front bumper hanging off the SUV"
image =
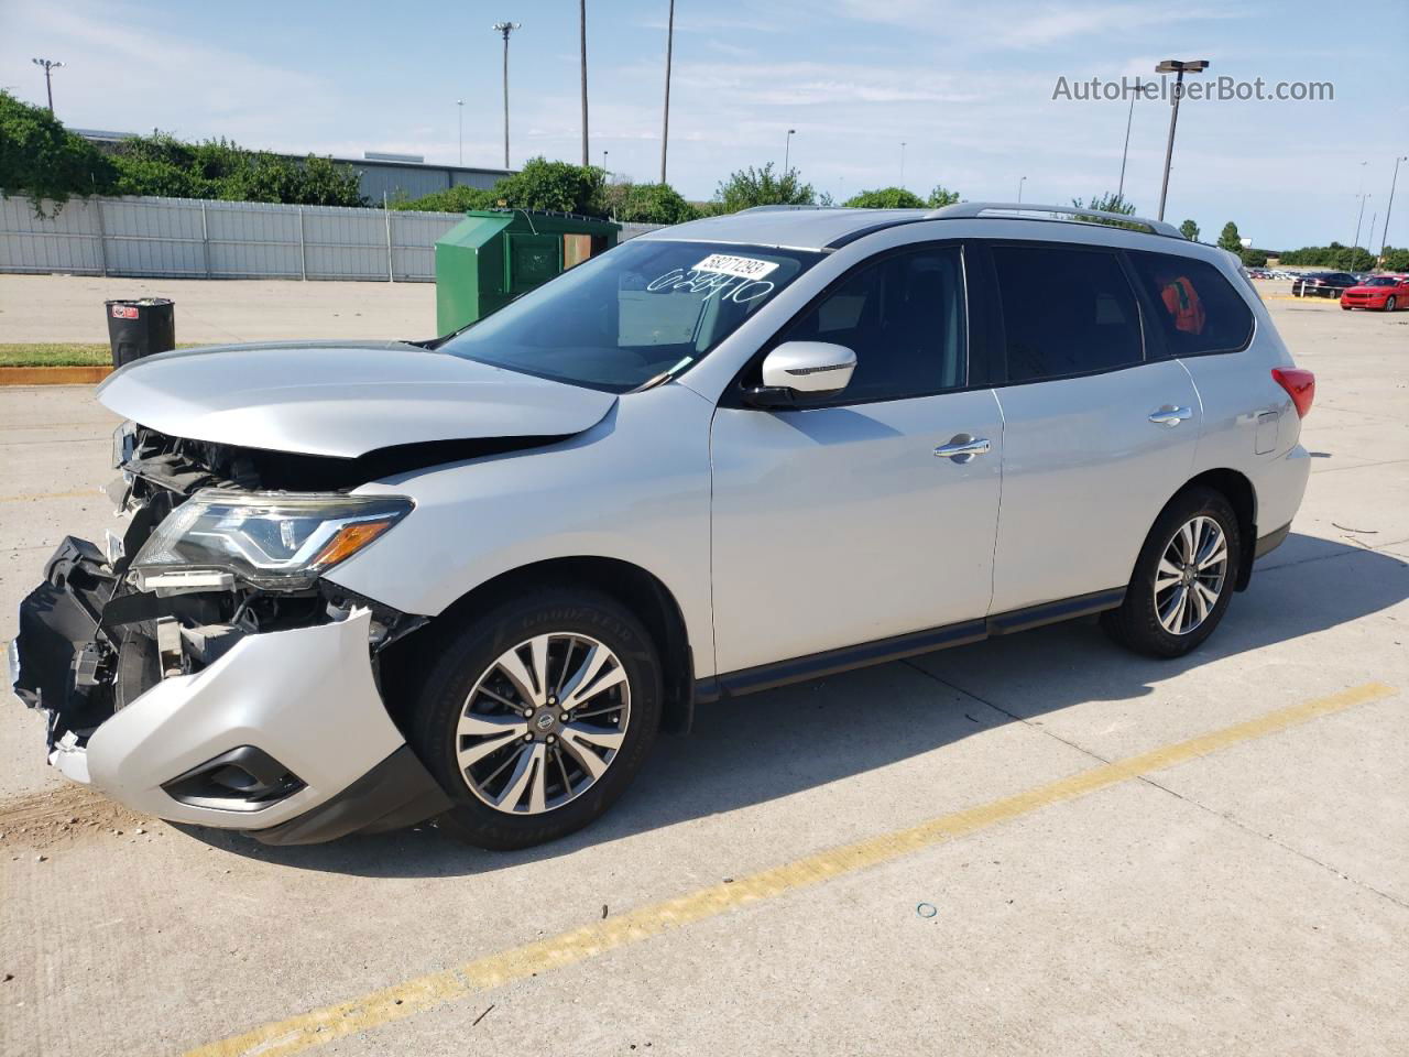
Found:
[[[10,647],[15,695],[48,716],[51,764],[132,810],[275,844],[449,806],[382,700],[369,607],[249,633],[199,623],[201,605],[124,593],[93,544],[61,544]]]

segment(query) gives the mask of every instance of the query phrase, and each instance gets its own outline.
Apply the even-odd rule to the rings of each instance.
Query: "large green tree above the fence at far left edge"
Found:
[[[113,165],[87,140],[68,131],[48,110],[0,92],[0,193],[23,193],[45,216],[63,209],[72,194],[113,189]]]

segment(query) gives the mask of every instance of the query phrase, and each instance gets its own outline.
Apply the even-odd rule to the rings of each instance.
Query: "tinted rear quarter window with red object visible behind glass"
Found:
[[[1247,344],[1253,313],[1217,268],[1174,254],[1131,252],[1130,262],[1171,355],[1234,352]]]

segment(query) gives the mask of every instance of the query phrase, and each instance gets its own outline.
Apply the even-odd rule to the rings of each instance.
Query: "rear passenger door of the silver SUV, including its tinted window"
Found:
[[[1119,251],[989,245],[1002,319],[1003,503],[993,613],[1123,588],[1188,481],[1199,397],[1174,359],[1147,357],[1143,313],[1196,313],[1136,293]],[[1172,304],[1172,307],[1171,307]]]

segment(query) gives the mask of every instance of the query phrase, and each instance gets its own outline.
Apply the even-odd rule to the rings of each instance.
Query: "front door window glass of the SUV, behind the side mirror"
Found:
[[[857,354],[831,403],[903,400],[964,385],[964,264],[955,245],[859,266],[805,311],[785,341],[830,341]]]

